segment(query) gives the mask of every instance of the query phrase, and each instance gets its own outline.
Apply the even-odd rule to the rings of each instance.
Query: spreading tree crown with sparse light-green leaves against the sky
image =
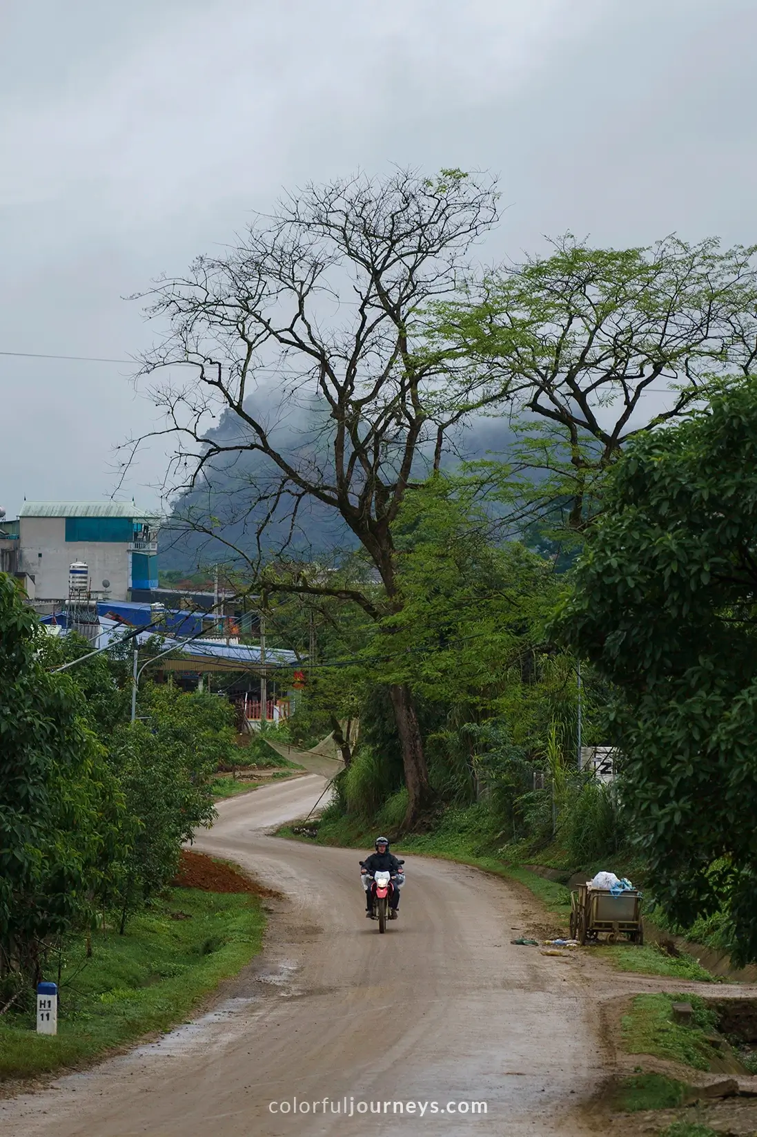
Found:
[[[447,346],[477,366],[489,393],[500,383],[519,439],[500,491],[514,517],[557,514],[563,538],[566,528],[583,530],[631,439],[680,418],[713,375],[749,373],[756,251],[676,236],[596,249],[568,233],[549,255],[435,306],[432,354]],[[493,473],[489,463],[483,476],[496,481]]]

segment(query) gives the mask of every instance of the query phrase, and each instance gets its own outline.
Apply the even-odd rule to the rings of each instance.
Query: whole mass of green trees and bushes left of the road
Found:
[[[116,908],[123,931],[210,822],[213,774],[239,754],[217,696],[148,683],[131,724],[117,649],[48,670],[86,650],[48,637],[0,574],[1,989],[9,973],[33,984],[60,937],[95,913]]]

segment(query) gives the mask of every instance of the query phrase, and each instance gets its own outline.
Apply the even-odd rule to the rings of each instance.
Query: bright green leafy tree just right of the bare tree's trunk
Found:
[[[519,541],[492,539],[464,481],[436,475],[416,488],[400,522],[402,607],[366,647],[368,674],[416,694],[440,798],[464,805],[483,794],[511,835],[534,770],[555,770],[559,812],[577,764],[576,661],[544,633],[558,578]],[[600,740],[597,688],[584,669],[588,744]]]

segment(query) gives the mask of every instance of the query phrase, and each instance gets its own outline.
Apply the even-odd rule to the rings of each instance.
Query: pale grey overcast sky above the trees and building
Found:
[[[282,188],[488,168],[482,250],[757,239],[754,0],[30,0],[0,15],[0,351],[127,358],[122,297]],[[0,504],[102,498],[128,365],[0,355]],[[164,458],[128,496],[153,505]],[[124,496],[124,495],[120,495]]]

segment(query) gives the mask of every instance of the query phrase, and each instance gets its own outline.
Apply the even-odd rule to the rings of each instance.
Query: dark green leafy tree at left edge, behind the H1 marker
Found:
[[[38,658],[43,634],[0,573],[0,976],[32,981],[107,888],[123,815],[81,692]]]

